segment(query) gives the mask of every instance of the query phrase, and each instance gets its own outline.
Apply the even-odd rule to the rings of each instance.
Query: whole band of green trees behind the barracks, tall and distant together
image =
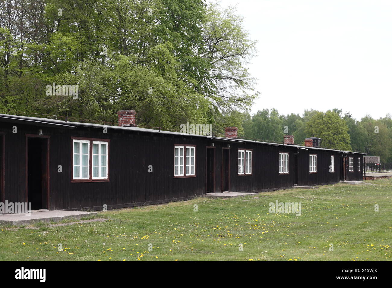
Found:
[[[219,2],[3,0],[0,113],[115,123],[118,110],[134,109],[142,127],[205,123],[222,135],[236,126],[242,137],[282,142],[293,134],[296,144],[314,136],[328,148],[392,160],[390,115],[243,112],[259,96],[247,69],[255,43],[235,7]],[[47,85],[77,85],[78,97],[48,94]]]

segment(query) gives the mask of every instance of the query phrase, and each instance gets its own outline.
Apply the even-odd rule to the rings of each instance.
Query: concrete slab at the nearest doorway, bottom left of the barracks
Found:
[[[96,215],[97,212],[51,210],[31,212],[30,216],[25,213],[0,215],[0,225],[28,225],[34,222],[58,222],[63,219],[80,219],[88,215]]]

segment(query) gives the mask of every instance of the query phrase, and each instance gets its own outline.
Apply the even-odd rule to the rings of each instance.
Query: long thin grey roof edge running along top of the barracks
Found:
[[[354,153],[352,151],[343,151],[343,150],[335,150],[335,149],[327,149],[327,148],[318,148],[318,147],[309,147],[309,146],[301,146],[301,145],[289,145],[289,144],[278,144],[278,143],[270,143],[270,142],[261,142],[261,141],[254,141],[254,140],[247,140],[247,139],[232,139],[232,138],[224,138],[224,137],[216,137],[216,136],[206,136],[206,135],[196,135],[196,134],[187,134],[187,133],[180,133],[180,132],[171,132],[171,131],[164,131],[164,130],[156,130],[156,129],[146,129],[140,127],[123,127],[123,126],[112,126],[112,125],[102,125],[102,124],[94,124],[94,123],[80,123],[80,122],[72,122],[72,121],[63,121],[63,120],[56,120],[56,119],[49,119],[49,118],[38,118],[38,117],[29,117],[29,116],[16,116],[16,115],[8,115],[8,114],[0,114],[0,121],[3,122],[15,122],[17,120],[23,120],[25,122],[34,124],[34,125],[45,125],[45,124],[52,124],[55,126],[61,126],[61,128],[66,129],[74,129],[78,126],[82,127],[93,127],[93,128],[100,128],[103,129],[107,127],[107,129],[119,129],[119,130],[128,130],[128,131],[136,131],[136,132],[150,132],[150,133],[162,133],[162,134],[169,134],[169,135],[181,135],[181,136],[192,136],[192,137],[203,137],[211,140],[216,141],[225,141],[225,142],[236,142],[236,143],[260,143],[272,146],[287,146],[287,147],[296,147],[298,149],[314,149],[314,150],[329,150],[329,151],[336,151],[342,153]],[[355,152],[358,154],[366,153],[362,152]]]

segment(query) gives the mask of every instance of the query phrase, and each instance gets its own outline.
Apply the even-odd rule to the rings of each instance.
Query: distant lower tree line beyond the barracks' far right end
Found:
[[[263,109],[255,114],[243,113],[245,138],[282,142],[284,134],[294,135],[294,144],[303,145],[305,138],[322,138],[325,148],[365,152],[380,156],[381,162],[392,161],[392,118],[360,120],[342,110],[326,112],[305,110],[302,115],[280,115],[276,109]]]

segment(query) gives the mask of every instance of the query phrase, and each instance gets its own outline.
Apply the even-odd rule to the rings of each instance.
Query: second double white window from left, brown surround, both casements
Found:
[[[174,177],[196,176],[195,146],[174,145]]]

